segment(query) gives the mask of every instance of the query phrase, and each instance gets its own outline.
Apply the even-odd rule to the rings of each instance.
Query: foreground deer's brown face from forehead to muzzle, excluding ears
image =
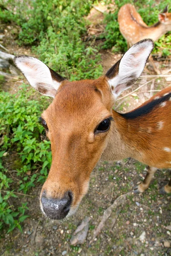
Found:
[[[64,81],[42,114],[51,141],[52,166],[41,191],[41,209],[50,218],[65,217],[69,210],[70,214],[75,212],[87,193],[90,173],[106,146],[112,119],[109,87],[106,86],[103,96],[97,89],[97,85],[105,83],[105,78]],[[46,202],[50,198],[53,201],[58,198],[61,213],[56,210],[49,213]]]

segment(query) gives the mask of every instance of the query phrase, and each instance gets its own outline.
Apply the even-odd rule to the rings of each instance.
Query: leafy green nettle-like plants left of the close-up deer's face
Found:
[[[15,227],[21,230],[20,222],[28,217],[26,203],[12,203],[17,197],[15,192],[26,193],[36,183],[43,183],[51,165],[50,142],[38,122],[41,106],[46,108],[44,102],[48,101],[43,96],[39,101],[32,99],[34,94],[25,84],[14,95],[0,92],[0,230],[8,226],[8,232]],[[17,151],[17,164],[14,161],[13,166],[19,178],[17,187],[4,166],[5,158],[13,150]]]

